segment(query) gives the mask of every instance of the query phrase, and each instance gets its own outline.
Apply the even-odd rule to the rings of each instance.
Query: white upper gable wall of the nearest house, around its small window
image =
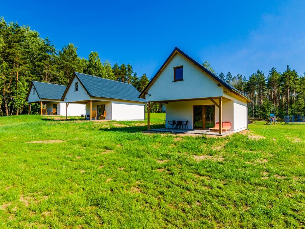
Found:
[[[183,65],[183,81],[174,81],[174,67]],[[151,94],[149,96],[148,94]],[[216,97],[223,95],[210,76],[191,64],[181,54],[176,54],[161,71],[145,96],[146,101],[178,100]]]

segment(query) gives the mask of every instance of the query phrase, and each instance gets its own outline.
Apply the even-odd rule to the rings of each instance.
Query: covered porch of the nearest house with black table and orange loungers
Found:
[[[223,96],[186,100],[153,101],[147,103],[148,108],[151,108],[156,102],[163,103],[166,106],[166,128],[152,129],[152,131],[224,136],[234,130],[233,100]],[[149,110],[150,109],[148,109],[147,115],[148,130],[150,130]],[[171,128],[171,123],[181,121],[188,122],[187,126],[182,126],[184,129]],[[231,129],[223,129],[220,125],[219,128],[217,128],[217,132],[209,131],[209,128],[213,128],[217,122],[229,122],[231,123]]]

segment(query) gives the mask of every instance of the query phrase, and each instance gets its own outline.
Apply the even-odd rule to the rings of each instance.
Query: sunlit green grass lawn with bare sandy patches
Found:
[[[0,117],[0,227],[305,227],[305,125],[264,123],[215,138]]]

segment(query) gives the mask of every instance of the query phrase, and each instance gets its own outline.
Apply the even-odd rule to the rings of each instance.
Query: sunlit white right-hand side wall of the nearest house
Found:
[[[241,101],[234,101],[234,132],[247,128],[247,104]]]

